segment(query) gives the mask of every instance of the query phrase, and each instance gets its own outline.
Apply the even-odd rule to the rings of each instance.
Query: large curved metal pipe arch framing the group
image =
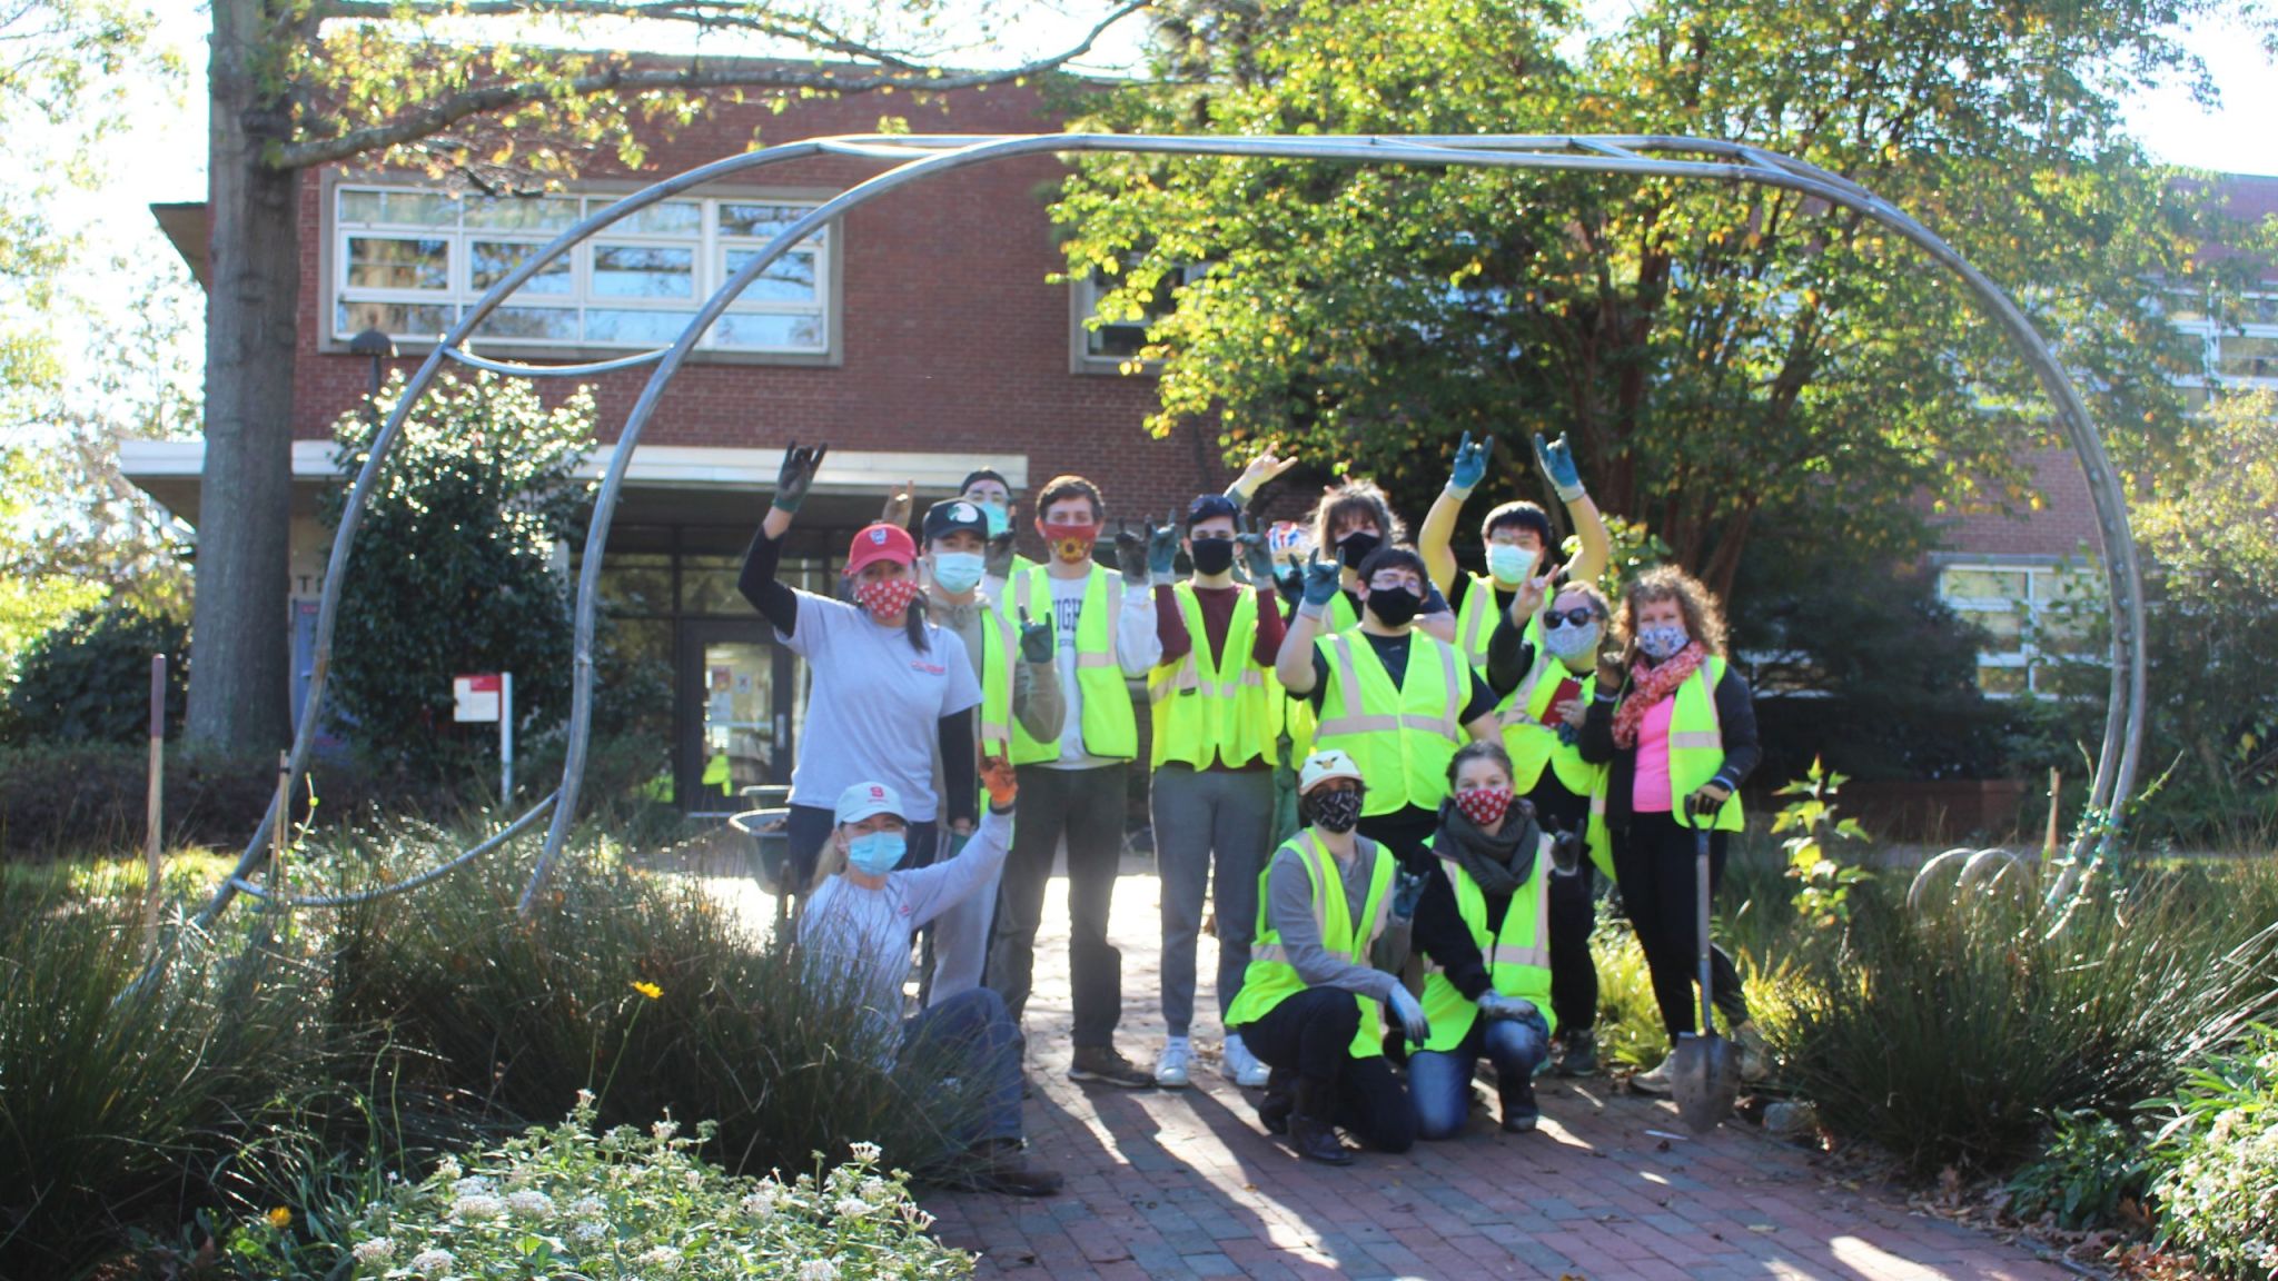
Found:
[[[2066,442],[2080,463],[2082,474],[2089,481],[2089,497],[2096,506],[2096,527],[2103,536],[2105,547],[2105,574],[2107,574],[2107,599],[2112,613],[2112,700],[2105,716],[2105,743],[2096,761],[2096,782],[2089,793],[2089,811],[2107,816],[2105,823],[2089,823],[2073,839],[2071,859],[2066,875],[2059,880],[2055,896],[2068,894],[2078,882],[2082,864],[2093,866],[2119,832],[2116,821],[2134,791],[2137,780],[2137,752],[2144,736],[2144,593],[2141,574],[2137,568],[2134,540],[2128,531],[2128,504],[2119,479],[2112,472],[2112,463],[2105,456],[2103,440],[2096,433],[2096,424],[2089,419],[2089,410],[2080,399],[2080,392],[2066,378],[2055,351],[2034,331],[2025,312],[1982,271],[1970,267],[1952,246],[1939,239],[1929,228],[1914,221],[1904,210],[1891,205],[1888,201],[1875,196],[1873,191],[1827,173],[1813,164],[1800,160],[1768,153],[1752,146],[1715,141],[1715,139],[1690,139],[1690,137],[1658,137],[1658,134],[1611,134],[1611,137],[1583,137],[1583,134],[1326,134],[1326,137],[1144,137],[1144,134],[854,134],[854,137],[822,137],[804,139],[784,146],[770,146],[763,150],[731,155],[727,160],[715,160],[711,164],[690,169],[674,178],[665,178],[642,191],[636,191],[615,205],[601,210],[560,232],[544,251],[531,255],[510,276],[499,280],[483,294],[483,299],[467,308],[465,317],[437,342],[428,358],[419,365],[419,372],[403,387],[396,399],[394,413],[387,415],[378,438],[371,444],[362,470],[355,476],[355,486],[349,492],[349,501],[339,517],[339,531],[333,538],[333,554],[326,563],[323,597],[317,611],[317,656],[314,670],[308,682],[308,695],[301,707],[301,732],[294,736],[287,773],[289,780],[298,780],[308,764],[308,752],[317,732],[317,709],[323,704],[323,684],[333,659],[333,625],[339,613],[339,593],[346,577],[349,549],[355,542],[355,529],[362,522],[364,506],[371,497],[371,488],[378,479],[380,467],[387,465],[387,454],[403,433],[403,424],[410,417],[412,406],[435,381],[442,362],[458,360],[476,369],[490,369],[497,374],[528,376],[528,378],[576,378],[606,374],[615,369],[633,369],[642,365],[656,365],[649,374],[647,387],[642,387],[640,399],[633,403],[631,415],[624,422],[624,431],[617,435],[615,449],[611,451],[608,470],[601,479],[601,488],[595,495],[592,524],[585,533],[585,556],[579,570],[579,593],[576,593],[576,652],[574,652],[574,675],[572,675],[572,700],[570,700],[570,741],[567,757],[563,761],[563,777],[556,791],[540,800],[538,807],[522,814],[508,830],[490,837],[481,846],[474,846],[458,855],[456,859],[412,878],[410,882],[399,882],[380,891],[349,894],[337,898],[294,898],[294,905],[333,905],[342,900],[369,898],[371,894],[387,894],[396,889],[410,889],[412,884],[426,884],[437,875],[472,862],[481,852],[497,848],[513,832],[526,830],[538,821],[540,814],[551,811],[544,848],[538,857],[538,866],[531,873],[528,884],[522,891],[519,909],[528,914],[531,905],[538,900],[547,873],[570,834],[572,818],[576,816],[579,786],[585,770],[585,745],[592,727],[592,634],[595,634],[595,602],[599,595],[601,577],[601,549],[608,542],[611,517],[615,515],[617,495],[624,488],[626,465],[633,458],[633,449],[640,444],[642,431],[649,426],[649,417],[656,413],[656,403],[672,376],[688,360],[697,340],[713,326],[720,312],[736,301],[745,287],[759,278],[777,258],[781,258],[790,246],[820,230],[831,219],[845,214],[847,210],[863,205],[893,191],[898,187],[948,173],[952,169],[966,169],[975,164],[986,164],[991,160],[1011,160],[1021,155],[1055,155],[1055,153],[1153,153],[1153,155],[1216,155],[1216,157],[1273,157],[1273,160],[1342,160],[1358,164],[1412,164],[1412,166],[1483,166],[1483,169],[1554,169],[1554,171],[1585,171],[1585,173],[1636,173],[1656,178],[1704,178],[1715,182],[1754,182],[1763,187],[1781,187],[1791,191],[1802,191],[1818,196],[1829,205],[1841,205],[1847,210],[1863,212],[1877,223],[1902,235],[1916,248],[1927,253],[1934,262],[1952,271],[1977,305],[2000,324],[2002,333],[2016,346],[2016,351],[2032,367],[2034,376],[2041,381],[2041,390],[2055,406],[2057,422],[2064,426]],[[859,182],[831,201],[825,201],[806,217],[797,219],[784,228],[754,260],[749,260],[734,278],[729,278],[720,289],[706,299],[704,308],[688,321],[679,340],[658,351],[645,351],[638,356],[626,356],[617,360],[601,360],[590,365],[517,365],[503,360],[487,360],[474,356],[465,349],[467,337],[497,310],[506,296],[519,289],[528,278],[542,271],[549,262],[570,253],[579,242],[592,237],[601,228],[647,207],[670,196],[718,182],[729,176],[765,169],[770,164],[784,164],[793,160],[809,160],[818,155],[845,155],[863,160],[893,162],[893,169],[879,173],[866,182]],[[289,786],[285,789],[289,795]],[[271,894],[262,887],[251,884],[246,878],[262,859],[269,832],[282,816],[278,814],[278,802],[271,800],[269,814],[262,818],[260,830],[246,846],[237,871],[223,880],[214,891],[214,898],[198,914],[198,923],[210,923],[219,916],[230,900],[244,891],[260,898]]]

